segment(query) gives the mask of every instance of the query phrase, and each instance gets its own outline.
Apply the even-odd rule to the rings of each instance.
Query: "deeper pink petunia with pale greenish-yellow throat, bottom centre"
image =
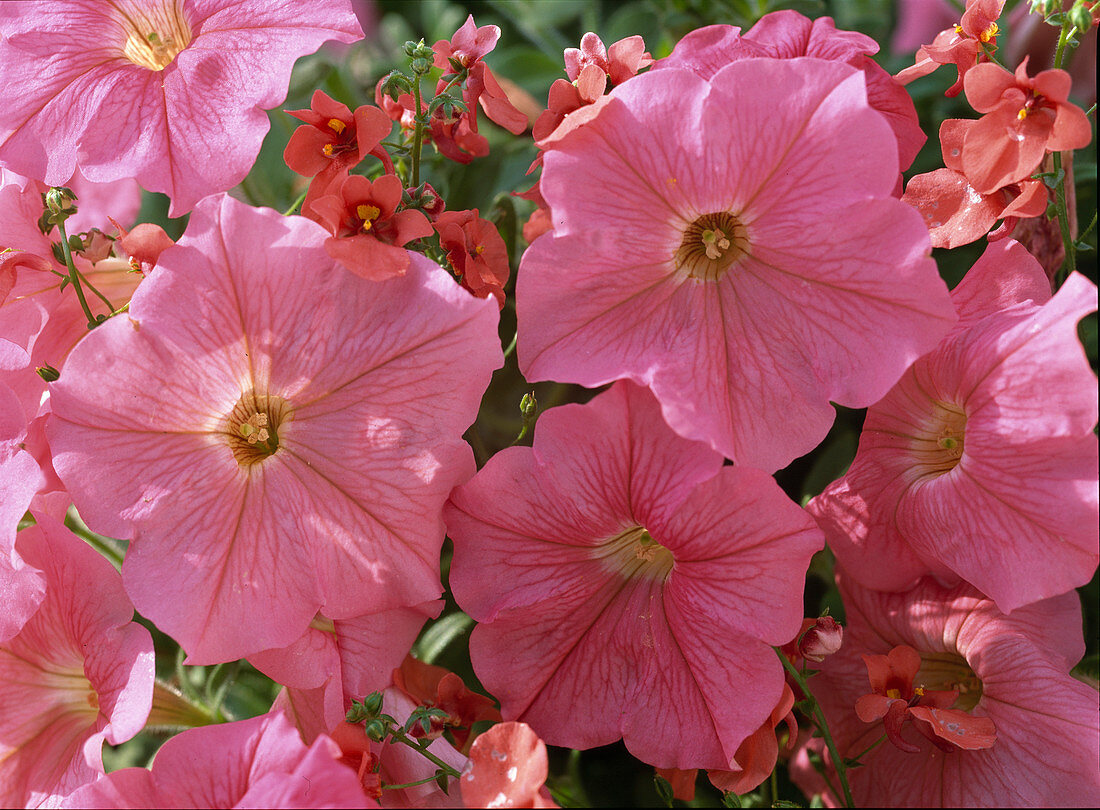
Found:
[[[551,745],[622,737],[662,768],[739,767],[822,543],[770,477],[723,467],[623,382],[547,412],[446,517],[474,671],[506,720]]]

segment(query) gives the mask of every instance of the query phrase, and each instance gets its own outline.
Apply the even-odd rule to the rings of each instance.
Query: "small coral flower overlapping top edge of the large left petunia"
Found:
[[[358,174],[337,179],[304,212],[332,236],[324,250],[358,276],[382,281],[404,275],[409,253],[403,245],[431,236],[420,211],[402,210],[402,182],[384,174],[373,183]]]

